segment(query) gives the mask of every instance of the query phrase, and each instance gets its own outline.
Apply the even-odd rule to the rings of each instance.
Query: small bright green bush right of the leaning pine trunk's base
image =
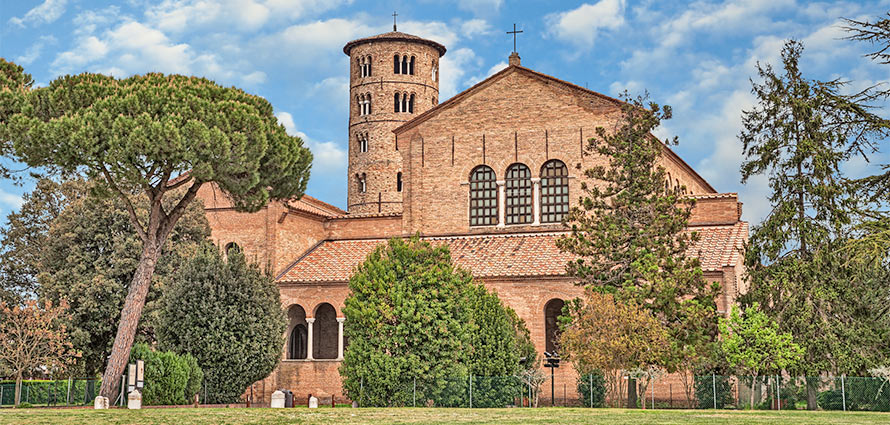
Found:
[[[190,401],[187,390],[194,388],[195,380],[200,387],[203,373],[200,368],[193,369],[186,356],[171,351],[154,351],[147,344],[139,343],[130,353],[130,361],[136,360],[145,362],[142,403],[147,406],[187,404]]]

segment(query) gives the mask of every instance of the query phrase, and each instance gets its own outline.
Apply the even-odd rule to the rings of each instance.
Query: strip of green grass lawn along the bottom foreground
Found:
[[[3,409],[2,424],[890,424],[890,413],[623,409]]]

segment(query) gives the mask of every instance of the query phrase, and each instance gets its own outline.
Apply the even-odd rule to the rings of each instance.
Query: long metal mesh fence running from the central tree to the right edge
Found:
[[[890,412],[890,381],[882,378],[616,375],[361,378],[349,396],[361,407],[627,407],[627,386],[635,385],[635,406],[644,409],[802,410],[809,383],[818,409]]]

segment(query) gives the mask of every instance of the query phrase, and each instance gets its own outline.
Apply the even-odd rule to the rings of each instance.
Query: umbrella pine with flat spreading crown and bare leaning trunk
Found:
[[[285,133],[268,101],[204,78],[84,73],[34,88],[2,58],[0,74],[0,154],[11,151],[47,173],[99,179],[99,193],[127,206],[139,235],[138,267],[100,389],[111,397],[163,246],[201,186],[214,183],[239,211],[257,211],[303,194],[312,155]],[[148,199],[147,216],[137,214],[134,193]]]

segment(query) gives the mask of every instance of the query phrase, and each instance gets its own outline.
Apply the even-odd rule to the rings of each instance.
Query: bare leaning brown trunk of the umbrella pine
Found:
[[[136,327],[142,316],[142,308],[145,307],[145,298],[151,287],[151,277],[160,257],[160,248],[155,241],[145,242],[142,248],[142,256],[139,266],[130,282],[130,290],[121,310],[121,319],[117,328],[117,336],[114,338],[114,346],[111,348],[111,356],[108,365],[102,375],[102,387],[99,394],[113,400],[118,394],[120,379],[124,368],[130,358],[130,349],[133,348],[133,339],[136,336]]]

